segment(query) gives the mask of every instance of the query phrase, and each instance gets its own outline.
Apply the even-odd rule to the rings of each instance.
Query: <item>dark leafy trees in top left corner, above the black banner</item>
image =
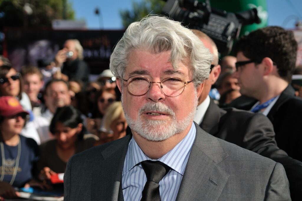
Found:
[[[32,13],[26,13],[24,5]],[[66,3],[66,18],[74,19],[70,2]],[[51,27],[54,19],[63,18],[62,0],[0,0],[0,30],[3,27]]]

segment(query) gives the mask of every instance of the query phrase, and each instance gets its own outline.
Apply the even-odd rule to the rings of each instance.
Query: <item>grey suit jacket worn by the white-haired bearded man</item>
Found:
[[[281,164],[195,126],[176,200],[290,200]],[[64,175],[64,200],[123,200],[122,170],[131,137],[74,155]]]

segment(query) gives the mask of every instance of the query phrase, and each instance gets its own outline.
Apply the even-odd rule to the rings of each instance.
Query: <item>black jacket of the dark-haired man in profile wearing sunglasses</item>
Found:
[[[257,102],[246,100],[246,97],[238,97],[228,106],[250,110]],[[302,161],[302,99],[295,96],[291,85],[282,91],[267,117],[274,126],[278,147]]]

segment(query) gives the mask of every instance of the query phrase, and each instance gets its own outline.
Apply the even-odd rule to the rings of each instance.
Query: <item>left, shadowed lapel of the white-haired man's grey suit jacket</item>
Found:
[[[121,181],[131,137],[119,139],[101,152],[103,160],[93,171],[91,200],[124,200]]]

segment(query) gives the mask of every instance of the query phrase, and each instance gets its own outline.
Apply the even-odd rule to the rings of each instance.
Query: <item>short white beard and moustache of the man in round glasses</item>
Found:
[[[138,111],[137,120],[133,120],[130,116],[124,111],[125,118],[127,120],[130,128],[137,132],[143,138],[150,141],[162,141],[169,139],[177,133],[181,133],[188,126],[190,126],[191,121],[193,120],[196,108],[198,105],[197,91],[195,91],[195,100],[194,106],[192,107],[191,112],[183,120],[176,120],[174,111],[163,104],[162,102],[148,102]],[[123,104],[123,95],[122,95],[122,105]],[[168,122],[167,120],[144,120],[141,115],[146,111],[158,111],[169,114],[172,117],[172,120]]]

